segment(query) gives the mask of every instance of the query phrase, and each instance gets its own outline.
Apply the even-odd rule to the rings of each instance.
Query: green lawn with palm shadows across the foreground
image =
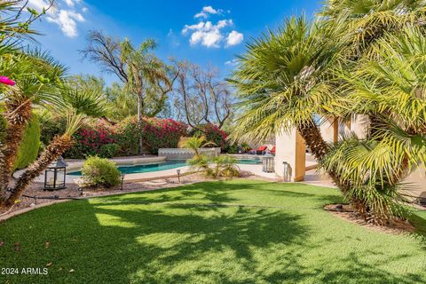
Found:
[[[338,201],[333,189],[234,180],[60,203],[0,225],[0,266],[51,263],[0,283],[426,282],[422,238],[322,209]]]

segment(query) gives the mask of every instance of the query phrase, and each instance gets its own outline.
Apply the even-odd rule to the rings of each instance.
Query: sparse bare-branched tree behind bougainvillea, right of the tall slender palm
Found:
[[[235,102],[228,83],[219,80],[216,68],[204,70],[187,61],[176,65],[179,73],[173,106],[177,119],[192,127],[215,123],[223,128],[232,118]]]

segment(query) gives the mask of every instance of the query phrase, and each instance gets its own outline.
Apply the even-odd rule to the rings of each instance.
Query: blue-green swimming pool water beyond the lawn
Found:
[[[260,160],[237,160],[237,163],[240,164],[258,164]],[[152,165],[136,165],[136,166],[119,166],[118,170],[122,172],[122,174],[138,174],[143,172],[152,172],[152,171],[160,171],[160,170],[171,170],[180,167],[184,167],[186,165],[185,161],[167,161],[162,163],[156,163]],[[73,171],[68,173],[70,176],[81,176],[81,171]]]

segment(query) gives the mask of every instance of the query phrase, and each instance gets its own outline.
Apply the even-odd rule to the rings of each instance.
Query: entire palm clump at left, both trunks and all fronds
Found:
[[[8,207],[18,200],[29,183],[60,154],[72,145],[71,135],[78,129],[86,114],[103,111],[101,96],[81,92],[67,83],[66,67],[40,51],[22,51],[22,36],[29,33],[31,19],[21,20],[20,1],[0,4],[0,12],[9,12],[10,18],[2,17],[0,40],[0,206]],[[26,7],[26,3],[24,3]],[[14,14],[13,14],[14,13]],[[6,20],[4,20],[6,19]],[[8,20],[12,19],[12,20]],[[22,27],[23,28],[22,28]],[[12,45],[13,43],[13,45]],[[67,130],[53,138],[40,157],[11,185],[12,168],[18,155],[18,146],[34,106],[54,109],[67,116]]]

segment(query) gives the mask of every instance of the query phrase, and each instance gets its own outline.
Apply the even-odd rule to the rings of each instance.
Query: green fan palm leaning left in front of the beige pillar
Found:
[[[327,154],[314,117],[328,115],[325,106],[335,96],[327,78],[345,43],[337,32],[324,21],[291,18],[278,33],[269,31],[248,44],[230,80],[242,108],[233,139],[263,140],[283,128],[296,127],[317,161]],[[334,172],[329,175],[346,190]]]

